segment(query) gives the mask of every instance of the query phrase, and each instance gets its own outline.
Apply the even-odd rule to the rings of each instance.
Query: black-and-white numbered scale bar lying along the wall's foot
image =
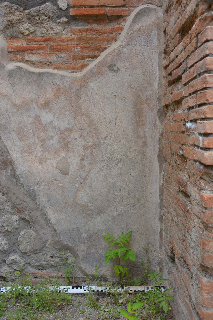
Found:
[[[161,289],[164,292],[164,286],[156,286],[157,288]],[[20,287],[19,287],[20,288]],[[26,291],[33,290],[33,287],[24,287]],[[11,287],[0,287],[0,293],[7,292],[11,290]],[[40,288],[42,290],[44,288]],[[49,287],[50,290],[56,289],[56,287]],[[58,292],[64,291],[66,293],[88,293],[88,292],[124,292],[128,290],[130,293],[134,292],[148,292],[152,290],[152,286],[140,285],[140,286],[120,286],[120,287],[100,287],[95,285],[70,285],[70,286],[60,286],[57,287]],[[14,288],[12,290],[15,290]]]

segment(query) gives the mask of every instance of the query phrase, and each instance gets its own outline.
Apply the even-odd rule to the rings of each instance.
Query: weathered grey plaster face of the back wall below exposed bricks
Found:
[[[15,244],[0,254],[11,256],[3,269],[18,255],[26,270],[41,259],[51,271],[45,253],[68,250],[80,275],[97,264],[109,276],[101,234],[131,229],[132,273],[147,245],[158,268],[162,35],[161,9],[141,6],[117,43],[78,74],[10,63],[2,40],[1,209],[20,219],[4,234],[4,247]]]

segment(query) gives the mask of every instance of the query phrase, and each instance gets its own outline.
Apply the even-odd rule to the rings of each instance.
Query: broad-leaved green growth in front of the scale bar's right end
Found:
[[[172,288],[169,288],[165,291],[161,289],[162,284],[167,281],[167,279],[161,279],[161,275],[162,272],[157,274],[156,271],[148,274],[148,280],[154,281],[154,285],[152,290],[149,290],[148,292],[142,294],[143,301],[137,301],[135,303],[132,303],[132,301],[130,301],[127,305],[128,312],[124,309],[118,308],[120,313],[126,319],[139,320],[141,319],[141,316],[143,316],[144,318],[144,316],[146,316],[146,312],[140,311],[141,308],[145,308],[145,311],[150,311],[152,315],[156,315],[160,311],[160,309],[163,308],[164,313],[167,314],[169,310],[169,301],[174,300],[174,298],[168,295]]]

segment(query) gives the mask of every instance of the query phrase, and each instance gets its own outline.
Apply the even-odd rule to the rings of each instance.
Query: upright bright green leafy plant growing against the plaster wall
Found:
[[[130,237],[132,235],[132,230],[127,232],[126,234],[122,233],[122,236],[118,236],[118,238],[114,239],[114,235],[110,235],[109,232],[107,235],[102,235],[105,242],[109,244],[109,248],[113,247],[114,249],[109,249],[108,252],[105,253],[105,264],[108,264],[111,259],[115,259],[118,261],[113,268],[115,275],[120,277],[124,277],[125,274],[127,278],[129,277],[128,268],[121,266],[121,258],[123,261],[132,260],[135,261],[135,254],[132,249],[129,249],[127,245],[129,245]]]

